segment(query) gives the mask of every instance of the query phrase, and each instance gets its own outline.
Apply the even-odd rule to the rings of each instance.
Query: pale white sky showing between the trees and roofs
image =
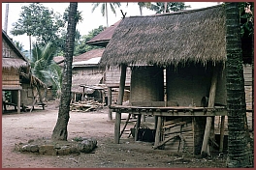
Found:
[[[5,24],[5,14],[6,14],[6,4],[2,3],[2,29],[4,29]],[[42,3],[45,7],[48,7],[48,9],[52,9],[54,13],[63,14],[65,9],[68,8],[69,3]],[[128,3],[128,6],[126,6],[126,3],[121,3],[121,7],[119,9],[116,9],[116,15],[112,14],[111,10],[109,10],[109,26],[117,22],[122,18],[122,14],[120,10],[123,11],[123,13],[127,13],[126,16],[131,15],[140,15],[139,6],[137,3]],[[7,34],[10,38],[12,38],[16,42],[21,42],[24,49],[29,49],[29,38],[25,35],[23,36],[13,36],[10,34],[10,30],[12,30],[13,26],[12,24],[17,21],[19,18],[19,14],[21,13],[21,7],[22,6],[28,6],[29,3],[9,3],[9,14],[8,14],[8,27],[7,27]],[[217,5],[217,2],[185,2],[185,5],[190,5],[191,8],[187,10],[193,10],[193,9],[200,9],[205,8],[209,6]],[[95,9],[95,11],[92,13],[92,3],[87,2],[79,2],[78,4],[78,11],[81,12],[81,16],[83,18],[82,22],[80,22],[77,25],[77,29],[80,31],[80,35],[87,35],[89,31],[98,28],[100,25],[106,26],[107,20],[106,17],[102,16],[100,7]],[[143,10],[144,15],[148,14],[155,14],[153,11],[149,11],[144,8]],[[33,41],[33,39],[32,39]]]

